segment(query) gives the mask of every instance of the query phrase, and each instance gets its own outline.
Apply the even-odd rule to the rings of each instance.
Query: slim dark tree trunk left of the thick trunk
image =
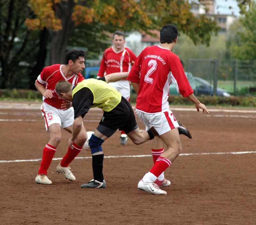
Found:
[[[47,45],[48,45],[48,40],[49,40],[48,35],[49,35],[49,32],[44,27],[44,29],[40,31],[39,50],[37,53],[36,65],[32,68],[32,71],[29,74],[29,88],[30,89],[36,89],[35,80],[44,68],[44,63],[45,63],[46,54],[47,54]]]

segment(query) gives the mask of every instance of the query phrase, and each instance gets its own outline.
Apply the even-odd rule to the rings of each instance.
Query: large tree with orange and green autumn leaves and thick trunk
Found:
[[[90,33],[92,24],[98,24],[100,32],[91,35],[94,43],[100,40],[103,31],[116,29],[146,31],[159,29],[167,23],[174,23],[187,34],[195,44],[209,44],[216,34],[216,24],[205,16],[196,18],[190,12],[188,1],[184,0],[30,0],[33,18],[28,18],[29,29],[46,27],[51,34],[50,63],[63,62],[68,42],[74,33],[84,36]],[[77,29],[82,26],[84,30]],[[104,29],[103,29],[104,28]],[[79,36],[76,36],[79,38]],[[72,45],[72,44],[69,44]]]

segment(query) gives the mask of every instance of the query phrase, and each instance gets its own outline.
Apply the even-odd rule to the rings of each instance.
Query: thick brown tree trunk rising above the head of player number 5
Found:
[[[50,64],[65,64],[65,54],[68,46],[69,35],[74,30],[74,23],[71,20],[74,1],[61,2],[56,9],[56,15],[62,21],[62,30],[52,33]]]

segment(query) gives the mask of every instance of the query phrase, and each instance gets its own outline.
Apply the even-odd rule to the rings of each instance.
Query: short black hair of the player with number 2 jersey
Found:
[[[173,24],[167,24],[160,30],[160,43],[172,43],[178,37],[178,28]]]

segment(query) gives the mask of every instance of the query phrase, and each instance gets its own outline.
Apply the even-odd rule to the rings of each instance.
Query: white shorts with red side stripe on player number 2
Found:
[[[136,112],[146,126],[146,130],[154,127],[159,135],[179,127],[179,124],[171,110],[155,114],[144,113],[137,109]]]

